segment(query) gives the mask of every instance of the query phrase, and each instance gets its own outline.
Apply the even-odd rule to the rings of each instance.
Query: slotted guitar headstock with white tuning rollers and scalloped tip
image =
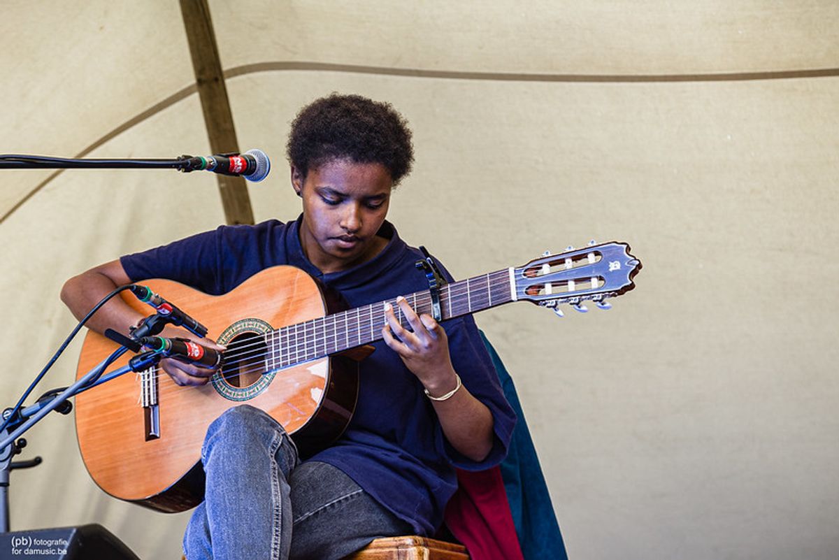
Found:
[[[629,253],[626,243],[611,241],[581,249],[569,247],[558,255],[545,254],[512,269],[516,298],[541,306],[558,308],[569,303],[577,311],[585,312],[585,301],[593,301],[601,309],[609,309],[607,298],[615,298],[635,288],[633,277],[641,269],[641,262]]]

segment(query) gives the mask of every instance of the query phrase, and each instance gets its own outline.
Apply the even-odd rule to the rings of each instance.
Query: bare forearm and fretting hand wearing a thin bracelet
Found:
[[[440,397],[457,386],[457,375],[451,365],[446,331],[430,315],[418,316],[404,298],[399,309],[414,332],[404,329],[393,309],[385,308],[388,318],[382,330],[385,343],[404,361],[405,366],[420,379],[432,397]],[[461,386],[445,401],[431,401],[440,426],[452,447],[474,461],[486,459],[492,451],[492,413],[472,393]]]

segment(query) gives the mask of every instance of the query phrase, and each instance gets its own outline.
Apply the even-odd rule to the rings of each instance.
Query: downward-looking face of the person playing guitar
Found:
[[[366,262],[387,244],[376,232],[388,215],[393,180],[381,163],[333,159],[310,169],[305,181],[292,168],[291,183],[303,198],[300,243],[320,272]]]

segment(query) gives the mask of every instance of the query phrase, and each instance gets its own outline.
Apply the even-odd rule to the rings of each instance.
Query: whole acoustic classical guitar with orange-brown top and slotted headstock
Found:
[[[545,255],[440,287],[440,315],[445,321],[514,301],[557,312],[560,303],[582,310],[586,300],[607,307],[607,298],[634,287],[640,267],[618,242]],[[120,500],[159,511],[185,511],[202,500],[204,434],[230,407],[248,403],[268,412],[304,456],[337,438],[357,396],[353,358],[360,355],[352,351],[382,338],[384,304],[395,303],[336,311],[313,278],[288,266],[259,272],[221,296],[168,280],[143,283],[200,318],[209,336],[227,345],[223,366],[205,386],[177,386],[155,367],[76,397],[79,447],[93,480]],[[148,309],[124,294],[138,311]],[[403,295],[419,313],[431,314],[430,289]],[[78,375],[115,348],[102,335],[87,334]]]

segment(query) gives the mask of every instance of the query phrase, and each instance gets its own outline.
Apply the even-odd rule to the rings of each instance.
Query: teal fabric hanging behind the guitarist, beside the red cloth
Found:
[[[524,560],[545,558],[548,551],[555,560],[567,560],[560,525],[556,521],[545,475],[539,466],[539,457],[536,456],[513,379],[483,332],[481,337],[498,372],[504,396],[519,417],[513,428],[507,459],[500,466]]]

